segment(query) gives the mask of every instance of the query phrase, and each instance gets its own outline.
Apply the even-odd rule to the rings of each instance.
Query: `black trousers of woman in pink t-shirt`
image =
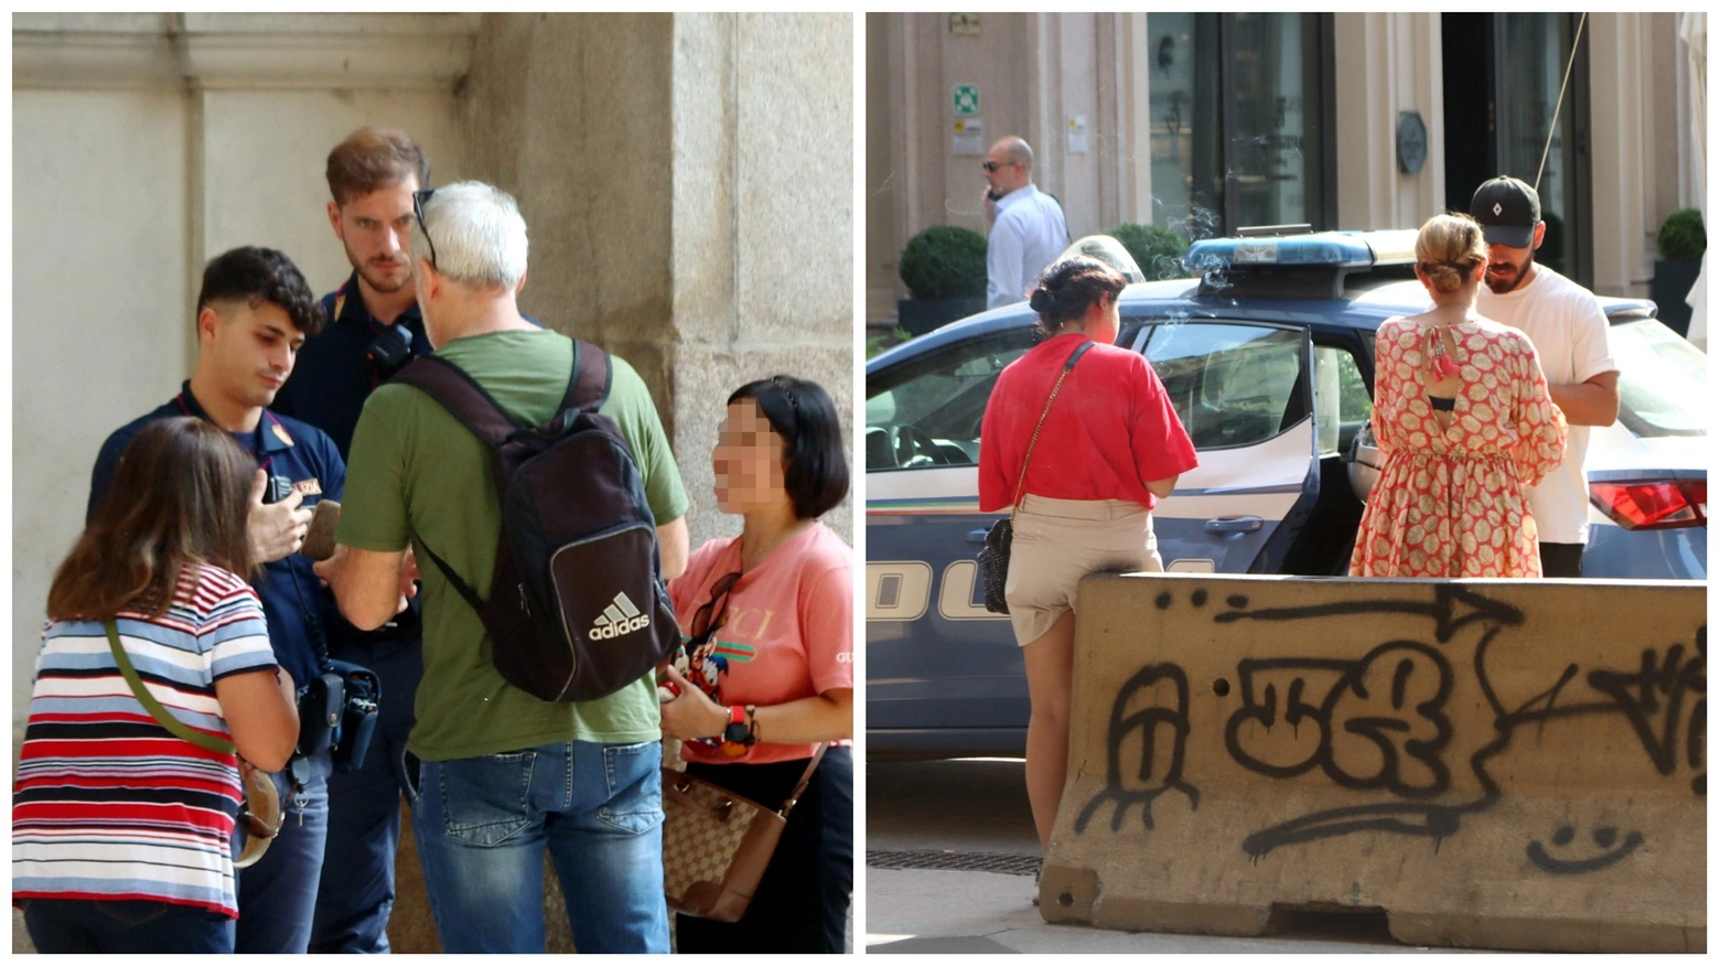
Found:
[[[688,774],[753,802],[781,807],[808,759],[764,766],[690,762]],[[783,840],[746,915],[733,924],[678,914],[679,953],[841,953],[853,896],[855,761],[832,747],[788,814]]]

